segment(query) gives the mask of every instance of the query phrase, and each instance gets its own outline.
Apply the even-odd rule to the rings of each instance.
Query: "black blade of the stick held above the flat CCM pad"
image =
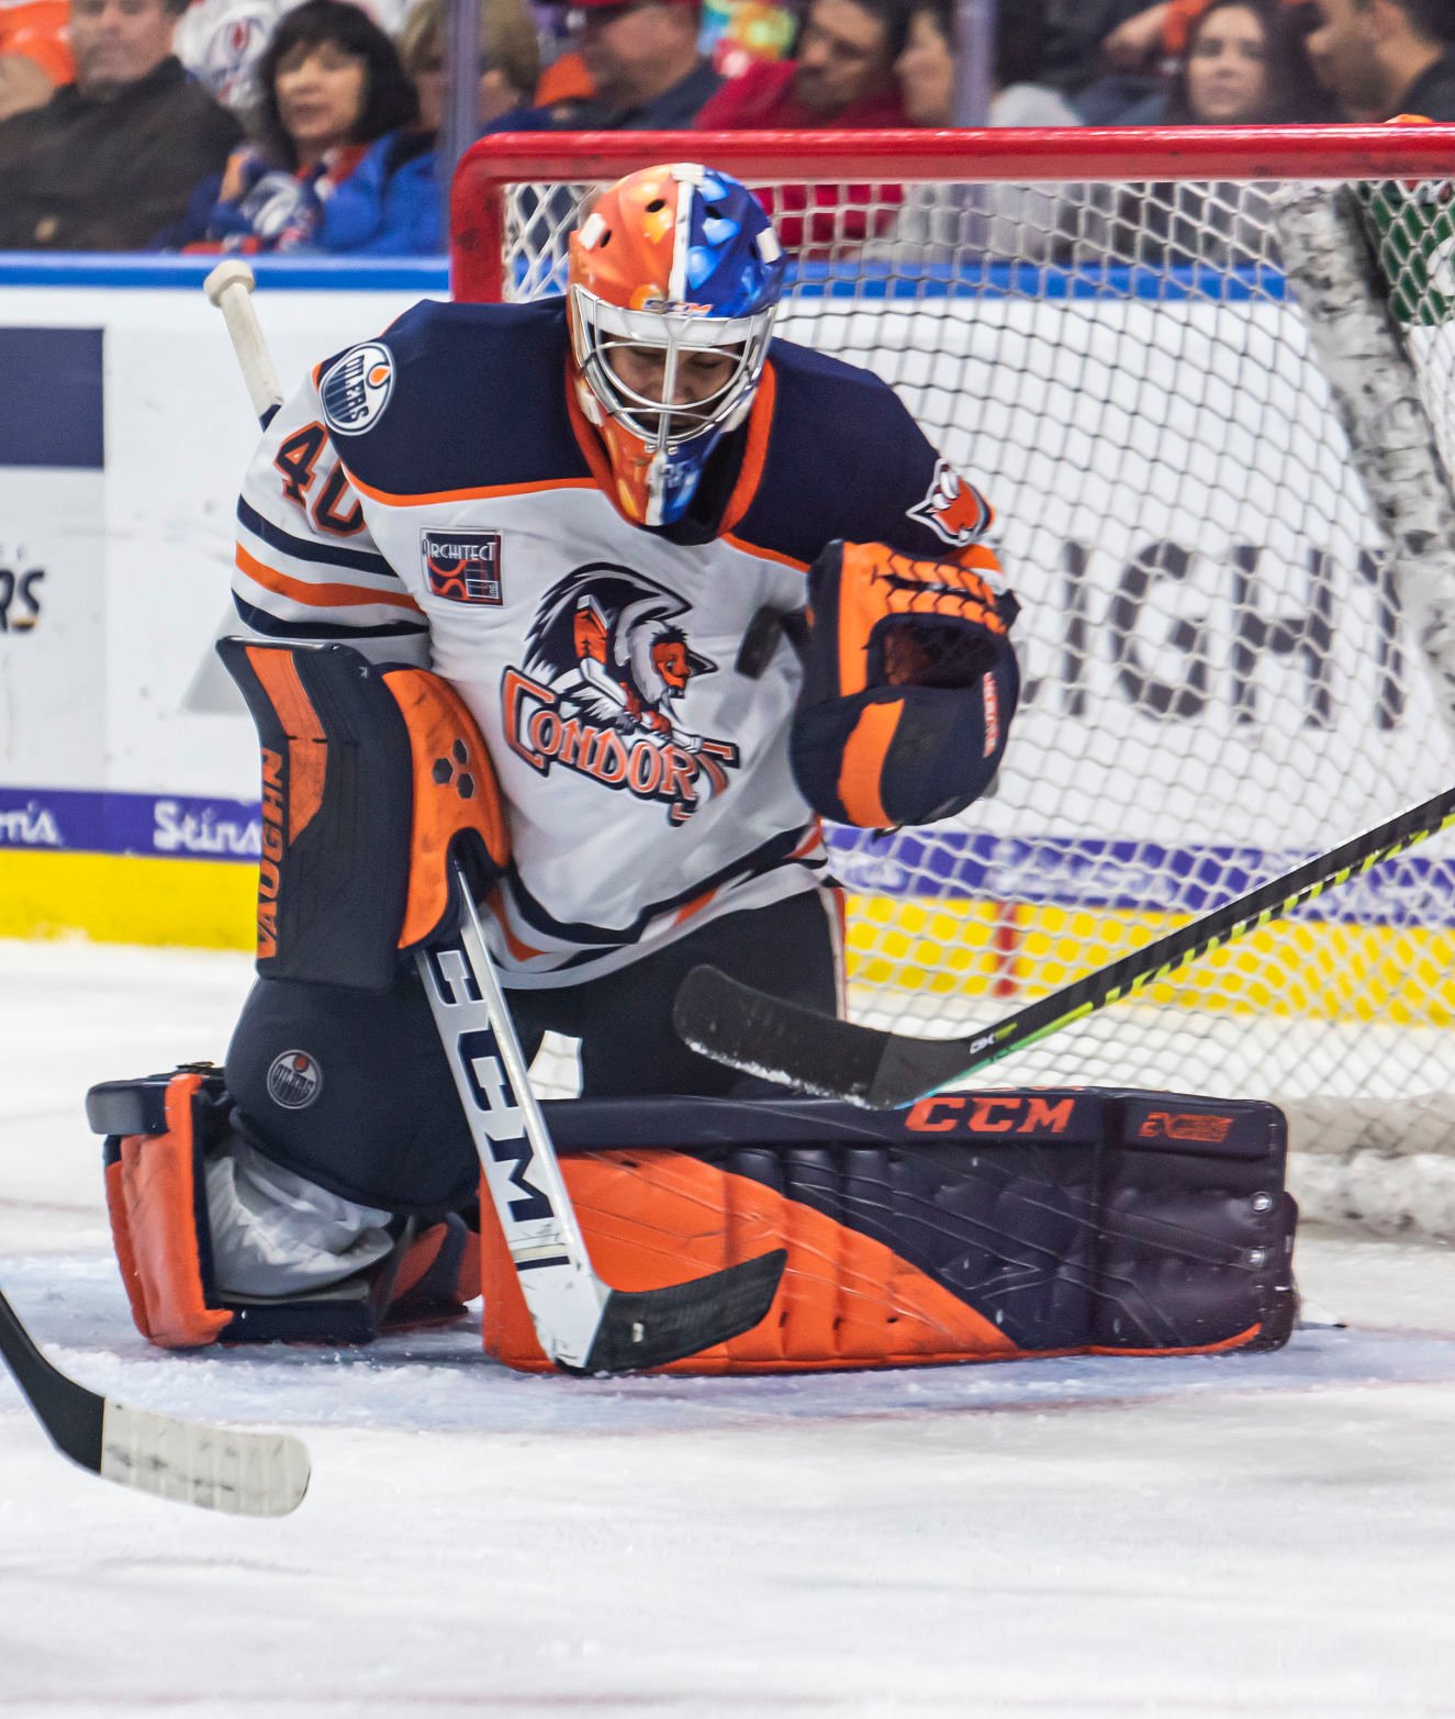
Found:
[[[959,1040],[904,1042],[768,997],[713,966],[682,980],[672,1019],[684,1042],[715,1062],[866,1110],[909,1104],[965,1067]]]

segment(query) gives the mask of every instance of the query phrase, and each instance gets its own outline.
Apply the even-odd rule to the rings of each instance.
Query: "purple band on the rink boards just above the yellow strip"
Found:
[[[258,803],[189,794],[0,787],[0,851],[79,851],[146,858],[258,861]],[[1084,837],[1005,837],[945,830],[893,847],[830,832],[833,875],[859,894],[917,901],[1024,901],[1110,913],[1209,913],[1309,851],[1166,847]],[[1455,860],[1402,854],[1300,909],[1326,923],[1455,928]]]

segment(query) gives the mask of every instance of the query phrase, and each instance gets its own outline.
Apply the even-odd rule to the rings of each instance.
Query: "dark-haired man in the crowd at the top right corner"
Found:
[[[1455,0],[1318,0],[1309,55],[1350,119],[1455,120]]]

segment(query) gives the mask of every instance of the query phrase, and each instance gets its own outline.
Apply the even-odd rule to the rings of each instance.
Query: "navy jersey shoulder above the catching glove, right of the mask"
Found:
[[[775,340],[770,358],[778,394],[763,478],[734,535],[804,562],[833,538],[943,555],[909,514],[940,457],[895,390],[792,340]]]

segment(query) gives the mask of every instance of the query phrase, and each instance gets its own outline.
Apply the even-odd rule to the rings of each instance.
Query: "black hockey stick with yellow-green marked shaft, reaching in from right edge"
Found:
[[[1134,997],[1187,961],[1278,920],[1326,889],[1455,823],[1455,787],[1331,847],[1211,913],[1098,968],[964,1038],[914,1038],[835,1021],[694,968],[677,992],[677,1031],[703,1055],[869,1110],[912,1104],[1046,1038],[1094,1009]]]

